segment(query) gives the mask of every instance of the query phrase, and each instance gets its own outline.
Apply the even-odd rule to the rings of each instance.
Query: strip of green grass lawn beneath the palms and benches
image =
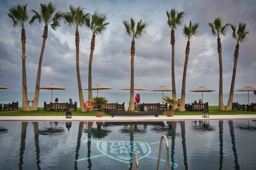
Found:
[[[66,111],[44,111],[43,108],[39,108],[38,111],[22,111],[21,108],[15,111],[0,111],[0,116],[65,116]],[[81,112],[78,108],[77,111],[71,110],[72,116],[95,116],[95,111]],[[218,111],[218,106],[209,106],[210,115],[254,115],[256,111]],[[164,112],[164,115],[166,113]],[[202,115],[202,111],[174,111],[174,115]],[[104,116],[109,116],[104,114]]]

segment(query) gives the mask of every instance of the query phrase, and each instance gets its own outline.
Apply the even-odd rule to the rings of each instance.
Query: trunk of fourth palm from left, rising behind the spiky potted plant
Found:
[[[88,71],[88,100],[92,100],[92,60],[93,60],[93,51],[95,47],[95,33],[92,35],[91,41],[91,52],[89,60],[89,71]]]

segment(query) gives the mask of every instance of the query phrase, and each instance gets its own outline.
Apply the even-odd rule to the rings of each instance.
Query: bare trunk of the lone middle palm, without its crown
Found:
[[[134,55],[135,55],[135,41],[132,39],[132,46],[130,48],[130,107],[129,110],[134,110]]]

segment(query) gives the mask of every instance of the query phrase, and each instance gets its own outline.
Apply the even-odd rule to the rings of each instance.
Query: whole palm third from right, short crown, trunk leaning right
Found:
[[[187,47],[186,47],[185,63],[184,63],[184,70],[183,70],[181,103],[179,105],[179,111],[185,111],[186,75],[187,75],[187,64],[189,62],[190,38],[195,34],[197,34],[198,27],[199,27],[199,23],[195,23],[194,25],[192,25],[190,21],[189,26],[184,25],[184,28],[183,28],[183,34],[187,38]]]

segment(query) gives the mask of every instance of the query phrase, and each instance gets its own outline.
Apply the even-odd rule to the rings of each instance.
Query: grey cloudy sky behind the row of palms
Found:
[[[0,1],[0,84],[9,86],[10,90],[21,91],[21,42],[20,28],[14,28],[6,12],[11,6],[28,4],[30,10],[40,10],[40,3],[53,2],[57,10],[66,12],[69,5],[82,6],[85,12],[97,11],[108,17],[108,28],[105,33],[96,36],[93,57],[93,84],[100,83],[119,89],[130,83],[130,44],[131,39],[125,34],[122,21],[142,19],[148,22],[147,33],[136,39],[135,51],[135,84],[148,89],[160,85],[171,87],[171,46],[170,29],[167,25],[166,10],[175,8],[186,12],[184,24],[198,22],[197,36],[190,41],[190,57],[187,70],[187,91],[198,86],[207,86],[218,91],[219,64],[216,49],[216,37],[211,34],[208,22],[222,17],[224,23],[247,23],[249,39],[240,46],[237,65],[236,86],[256,87],[256,1]],[[182,72],[185,58],[186,38],[182,34],[183,26],[176,31],[176,88],[181,92]],[[88,60],[92,32],[80,28],[80,74],[82,86],[88,86]],[[38,59],[41,50],[43,25],[27,25],[27,83],[28,91],[34,91]],[[231,29],[221,37],[223,47],[223,90],[229,92],[233,71],[233,55],[236,41],[231,37]],[[48,83],[61,84],[67,91],[77,91],[75,71],[75,30],[63,21],[56,31],[49,27],[46,41],[41,85]]]

